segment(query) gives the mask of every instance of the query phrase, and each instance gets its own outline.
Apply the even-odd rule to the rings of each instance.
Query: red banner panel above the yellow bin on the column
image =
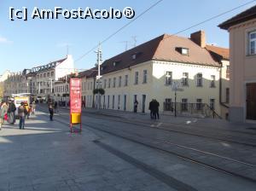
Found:
[[[70,79],[70,113],[81,113],[81,79],[71,78]]]

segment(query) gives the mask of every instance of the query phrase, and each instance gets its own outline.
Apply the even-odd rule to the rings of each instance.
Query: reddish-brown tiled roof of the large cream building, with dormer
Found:
[[[189,49],[189,55],[178,52],[177,48],[181,47]],[[137,55],[135,60],[132,59],[134,54]],[[102,74],[114,72],[152,60],[219,67],[218,62],[212,58],[207,49],[201,48],[191,39],[164,34],[104,61],[101,72]]]

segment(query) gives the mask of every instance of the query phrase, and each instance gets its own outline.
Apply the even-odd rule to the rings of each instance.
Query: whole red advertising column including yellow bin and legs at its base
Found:
[[[80,131],[82,131],[81,120],[81,79],[71,78],[69,84],[70,90],[70,130],[73,132],[73,124],[80,124]]]

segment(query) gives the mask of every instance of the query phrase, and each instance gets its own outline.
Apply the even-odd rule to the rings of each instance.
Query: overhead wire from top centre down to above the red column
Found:
[[[102,40],[102,43],[106,43],[110,38],[113,38],[114,35],[116,35],[117,33],[119,33],[120,31],[122,31],[126,26],[131,25],[132,22],[134,22],[135,20],[139,19],[140,17],[143,16],[143,14],[146,14],[150,9],[153,9],[156,5],[158,5],[159,3],[161,3],[164,0],[159,0],[156,3],[154,3],[153,5],[151,5],[148,9],[145,9],[141,14],[139,14],[136,18],[134,18],[133,20],[131,20],[130,22],[128,22],[127,24],[125,24],[125,26],[120,27],[116,32],[113,32],[111,35],[108,36],[108,38],[105,38],[104,40]],[[90,52],[92,52],[94,49],[96,49],[98,47],[98,45],[94,46],[93,48],[91,48],[90,50],[88,50],[87,52],[84,53],[84,55],[81,55],[79,57],[79,59],[77,59],[75,62],[80,61],[82,58],[84,58],[85,55],[89,55]]]

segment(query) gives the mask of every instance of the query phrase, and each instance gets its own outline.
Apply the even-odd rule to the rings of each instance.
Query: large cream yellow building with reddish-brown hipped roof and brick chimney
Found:
[[[202,31],[190,38],[165,34],[104,61],[101,107],[132,112],[137,101],[137,112],[148,113],[149,101],[156,99],[160,112],[173,113],[174,86],[178,86],[178,113],[205,114],[212,108],[220,115],[221,64],[206,46]],[[82,77],[83,99],[86,107],[93,107],[96,72],[87,74]]]

